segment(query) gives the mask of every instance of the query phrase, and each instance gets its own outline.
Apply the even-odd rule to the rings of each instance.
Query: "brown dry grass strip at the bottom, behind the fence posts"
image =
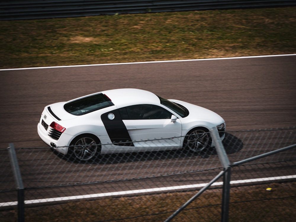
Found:
[[[296,182],[231,189],[229,221],[276,222],[296,218]],[[271,187],[271,191],[266,188]],[[221,189],[207,190],[176,216],[173,222],[221,221]],[[68,202],[25,209],[25,221],[165,221],[195,192],[142,195]],[[17,221],[17,211],[0,212],[1,221]],[[123,219],[126,218],[126,219]]]

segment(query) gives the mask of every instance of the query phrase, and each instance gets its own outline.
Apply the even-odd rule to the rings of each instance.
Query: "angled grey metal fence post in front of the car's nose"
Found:
[[[223,175],[223,193],[222,193],[222,208],[221,208],[221,222],[228,222],[229,219],[229,196],[230,196],[230,176],[231,167],[228,156],[221,142],[218,130],[216,127],[210,129],[212,140],[215,144],[215,149],[224,168]]]

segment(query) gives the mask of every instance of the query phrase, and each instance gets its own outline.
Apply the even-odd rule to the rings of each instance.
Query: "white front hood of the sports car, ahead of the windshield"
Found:
[[[198,119],[198,120],[210,121],[210,122],[215,121],[217,122],[217,124],[221,124],[224,122],[224,119],[221,116],[219,116],[218,114],[216,114],[215,112],[207,108],[197,106],[191,103],[187,103],[184,101],[180,101],[180,100],[170,99],[170,101],[174,103],[178,103],[182,106],[185,106],[188,109],[189,115],[186,116],[185,118]]]

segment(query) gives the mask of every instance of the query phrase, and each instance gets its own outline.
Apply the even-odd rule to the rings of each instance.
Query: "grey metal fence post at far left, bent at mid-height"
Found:
[[[18,221],[25,221],[25,192],[24,185],[22,183],[22,176],[20,174],[20,167],[17,162],[17,155],[15,153],[15,146],[13,143],[9,143],[8,153],[12,171],[15,176],[15,182],[17,184],[17,210],[18,210]]]

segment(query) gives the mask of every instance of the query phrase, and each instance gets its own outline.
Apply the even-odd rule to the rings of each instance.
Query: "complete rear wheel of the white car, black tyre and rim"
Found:
[[[87,161],[101,153],[101,145],[98,138],[94,135],[84,134],[71,142],[70,146],[75,158],[81,161]]]

